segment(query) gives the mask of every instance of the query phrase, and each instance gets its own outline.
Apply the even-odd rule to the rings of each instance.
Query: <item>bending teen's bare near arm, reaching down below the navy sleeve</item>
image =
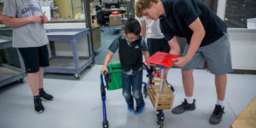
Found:
[[[189,28],[193,31],[189,49],[187,55],[174,59],[177,61],[174,63],[177,67],[184,67],[192,59],[206,34],[204,26],[202,26],[199,17],[189,25]]]

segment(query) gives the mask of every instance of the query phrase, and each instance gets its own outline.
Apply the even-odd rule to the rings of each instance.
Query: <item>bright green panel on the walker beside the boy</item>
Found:
[[[111,82],[108,83],[108,90],[118,90],[122,88],[122,67],[118,63],[108,64],[108,73],[110,74]]]

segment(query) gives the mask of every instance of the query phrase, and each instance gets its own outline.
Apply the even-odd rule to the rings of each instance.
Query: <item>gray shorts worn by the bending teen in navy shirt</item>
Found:
[[[187,54],[188,49],[189,44],[186,44],[184,55]],[[232,72],[230,41],[227,34],[214,43],[197,49],[191,61],[182,67],[182,71],[203,68],[205,61],[207,61],[207,69],[213,74]]]

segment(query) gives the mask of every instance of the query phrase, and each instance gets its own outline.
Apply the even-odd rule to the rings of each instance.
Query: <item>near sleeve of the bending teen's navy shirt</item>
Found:
[[[181,0],[176,6],[177,14],[184,20],[186,25],[190,25],[199,15],[201,10],[198,8],[195,0]]]

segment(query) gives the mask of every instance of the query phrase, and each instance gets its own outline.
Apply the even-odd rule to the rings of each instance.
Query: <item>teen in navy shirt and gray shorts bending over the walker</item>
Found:
[[[232,71],[230,42],[224,22],[200,0],[138,0],[136,15],[160,19],[161,32],[168,40],[171,54],[179,54],[180,51],[176,36],[187,39],[184,55],[175,59],[174,63],[182,67],[185,99],[172,109],[172,113],[195,109],[193,71],[202,68],[207,61],[208,70],[215,75],[218,96],[209,121],[218,124],[224,113],[226,73]]]

